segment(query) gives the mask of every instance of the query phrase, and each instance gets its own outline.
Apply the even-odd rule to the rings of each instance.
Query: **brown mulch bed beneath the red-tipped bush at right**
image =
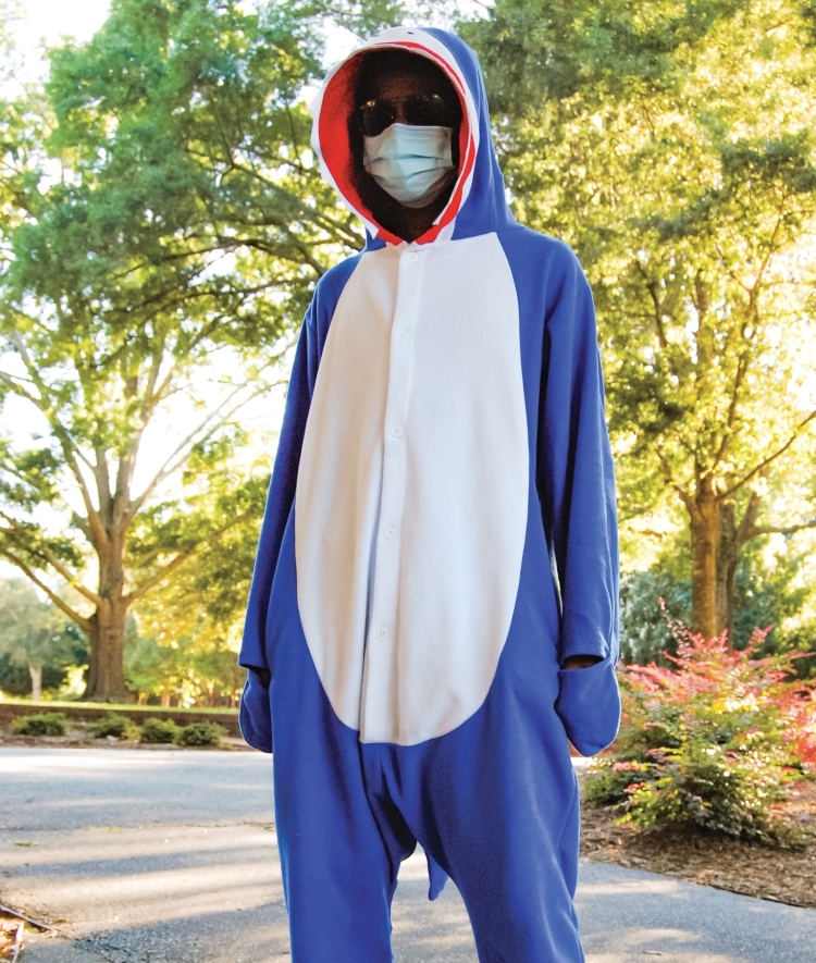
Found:
[[[696,828],[617,826],[609,808],[584,803],[581,855],[678,876],[744,896],[816,908],[816,782],[778,807],[784,841],[762,844]]]

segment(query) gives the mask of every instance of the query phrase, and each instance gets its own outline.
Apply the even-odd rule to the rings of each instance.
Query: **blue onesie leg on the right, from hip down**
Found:
[[[557,664],[526,641],[508,642],[467,723],[392,750],[391,792],[459,888],[480,963],[583,963],[578,785],[553,707]]]

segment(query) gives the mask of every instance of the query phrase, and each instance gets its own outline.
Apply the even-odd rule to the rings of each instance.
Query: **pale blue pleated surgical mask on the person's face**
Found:
[[[363,137],[363,166],[374,181],[407,208],[432,203],[456,177],[450,127],[392,124],[376,137]]]

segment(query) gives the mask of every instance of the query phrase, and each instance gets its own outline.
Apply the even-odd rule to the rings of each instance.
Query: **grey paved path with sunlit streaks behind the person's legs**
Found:
[[[288,956],[269,760],[0,749],[0,902],[51,921],[21,963],[270,963]],[[477,963],[448,884],[403,864],[397,963]],[[589,963],[816,963],[816,910],[583,863]]]

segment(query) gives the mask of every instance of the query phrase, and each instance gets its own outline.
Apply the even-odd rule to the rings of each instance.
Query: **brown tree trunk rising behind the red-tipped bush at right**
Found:
[[[717,613],[717,555],[720,543],[720,504],[714,480],[701,480],[691,515],[691,626],[705,639],[722,631]]]

